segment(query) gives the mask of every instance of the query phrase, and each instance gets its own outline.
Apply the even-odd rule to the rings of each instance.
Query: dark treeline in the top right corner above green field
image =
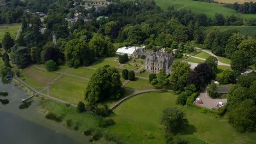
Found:
[[[225,4],[225,7],[236,10],[238,13],[243,14],[256,14],[256,3],[245,2],[243,4]]]

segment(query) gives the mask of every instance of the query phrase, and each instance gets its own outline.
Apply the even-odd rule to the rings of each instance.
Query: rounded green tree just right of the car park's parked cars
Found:
[[[240,85],[232,86],[228,92],[228,111],[232,111],[236,108],[241,101],[249,98],[249,91],[245,87],[241,87]]]

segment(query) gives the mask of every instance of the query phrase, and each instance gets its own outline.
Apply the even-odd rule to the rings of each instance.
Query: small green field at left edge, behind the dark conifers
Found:
[[[9,32],[11,37],[14,39],[20,26],[21,25],[19,23],[0,25],[0,41],[2,41],[6,32]]]

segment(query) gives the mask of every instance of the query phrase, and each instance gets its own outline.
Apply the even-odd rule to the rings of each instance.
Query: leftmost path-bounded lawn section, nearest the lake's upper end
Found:
[[[39,70],[33,66],[20,71],[20,79],[32,87],[46,87],[59,74]]]

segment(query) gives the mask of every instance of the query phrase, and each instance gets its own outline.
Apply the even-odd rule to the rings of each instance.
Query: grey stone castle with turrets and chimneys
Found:
[[[172,53],[164,51],[148,52],[145,59],[145,70],[158,74],[160,69],[164,69],[165,74],[171,74]]]

